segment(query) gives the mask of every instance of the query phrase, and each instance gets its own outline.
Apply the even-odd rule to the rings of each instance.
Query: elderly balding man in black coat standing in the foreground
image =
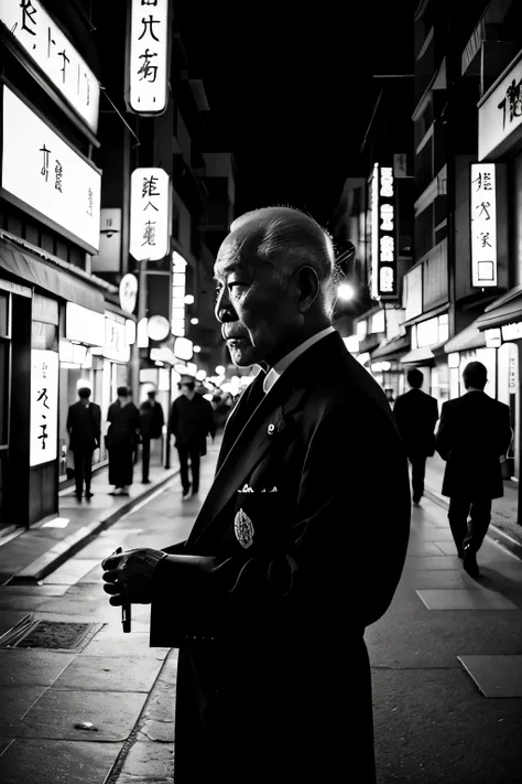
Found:
[[[176,784],[374,782],[363,634],[404,565],[407,461],[331,327],[334,267],[298,211],[235,221],[216,315],[235,364],[262,369],[187,540],[104,562],[110,603],[152,602],[151,645],[180,648]]]

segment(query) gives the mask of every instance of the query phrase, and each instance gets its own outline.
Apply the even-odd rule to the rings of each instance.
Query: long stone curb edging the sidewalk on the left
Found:
[[[148,487],[141,495],[129,498],[129,501],[117,509],[115,509],[107,517],[98,518],[89,523],[88,525],[81,526],[70,536],[66,536],[65,539],[61,539],[54,545],[47,552],[29,566],[21,569],[17,574],[9,578],[4,586],[28,586],[37,583],[43,580],[47,574],[51,574],[55,569],[61,567],[69,558],[73,558],[79,550],[81,550],[90,537],[100,534],[106,528],[110,528],[111,525],[117,523],[123,515],[131,512],[138,504],[146,501],[153,493],[167,484],[180,473],[180,469],[171,469],[168,473],[159,482]]]

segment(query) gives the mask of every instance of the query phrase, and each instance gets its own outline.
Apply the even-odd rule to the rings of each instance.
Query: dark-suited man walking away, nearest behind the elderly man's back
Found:
[[[434,397],[422,391],[424,376],[421,370],[412,368],[407,372],[406,379],[410,391],[399,395],[393,416],[412,466],[413,503],[418,504],[424,495],[426,458],[435,454],[438,404]]]

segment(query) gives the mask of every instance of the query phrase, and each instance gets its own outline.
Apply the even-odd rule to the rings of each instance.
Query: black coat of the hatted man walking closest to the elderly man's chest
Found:
[[[180,395],[172,404],[168,429],[177,448],[199,449],[200,454],[206,454],[207,436],[216,436],[214,409],[198,393],[192,400]]]

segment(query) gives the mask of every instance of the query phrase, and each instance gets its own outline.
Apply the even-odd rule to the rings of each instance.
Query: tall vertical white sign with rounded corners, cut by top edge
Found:
[[[129,109],[160,115],[168,99],[168,0],[131,0],[130,13]]]

